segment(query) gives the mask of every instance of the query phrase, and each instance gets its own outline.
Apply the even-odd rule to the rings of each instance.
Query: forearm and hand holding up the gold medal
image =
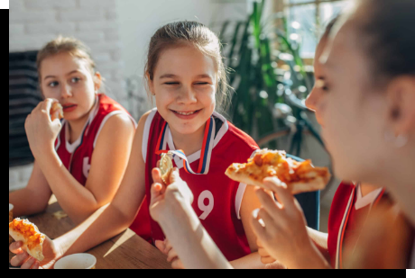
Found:
[[[232,268],[192,209],[193,194],[181,180],[179,170],[173,170],[167,188],[161,181],[159,169],[152,170],[152,178],[152,219],[170,239],[174,247],[171,251],[177,251],[175,256],[180,257],[182,265],[199,269]]]

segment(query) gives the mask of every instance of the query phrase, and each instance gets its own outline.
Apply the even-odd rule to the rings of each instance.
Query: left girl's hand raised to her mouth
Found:
[[[55,140],[60,132],[61,124],[56,115],[52,115],[51,105],[57,103],[55,99],[48,98],[39,103],[32,110],[24,123],[27,139],[32,150],[33,157],[40,159],[42,154],[53,151]]]

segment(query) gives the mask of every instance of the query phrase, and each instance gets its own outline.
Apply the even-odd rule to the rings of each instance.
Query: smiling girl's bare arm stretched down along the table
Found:
[[[53,254],[51,259],[45,259],[41,266],[51,267],[61,256],[82,253],[96,247],[109,238],[113,238],[133,223],[145,196],[145,164],[142,155],[142,140],[145,120],[144,114],[135,131],[133,148],[125,170],[123,181],[115,194],[113,202],[95,211],[87,220],[72,229],[67,234],[56,238],[48,244],[51,250],[43,250]],[[16,249],[13,243],[11,249]],[[21,265],[25,256],[21,253],[15,256],[14,266]]]

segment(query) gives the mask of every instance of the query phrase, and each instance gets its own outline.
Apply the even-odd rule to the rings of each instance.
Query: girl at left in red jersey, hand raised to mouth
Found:
[[[105,94],[88,48],[59,37],[38,53],[45,101],[25,122],[35,158],[27,186],[9,194],[16,216],[45,210],[51,194],[79,223],[110,202],[124,175],[134,137],[134,120]],[[51,119],[53,103],[64,119]],[[53,118],[53,117],[52,117]]]

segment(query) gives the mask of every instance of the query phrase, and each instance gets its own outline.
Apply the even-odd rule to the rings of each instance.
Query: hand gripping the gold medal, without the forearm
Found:
[[[158,221],[161,217],[170,215],[178,205],[191,205],[193,202],[193,193],[180,178],[178,168],[171,171],[169,186],[162,182],[159,168],[152,169],[152,180],[154,184],[151,189],[150,214],[153,220]]]

